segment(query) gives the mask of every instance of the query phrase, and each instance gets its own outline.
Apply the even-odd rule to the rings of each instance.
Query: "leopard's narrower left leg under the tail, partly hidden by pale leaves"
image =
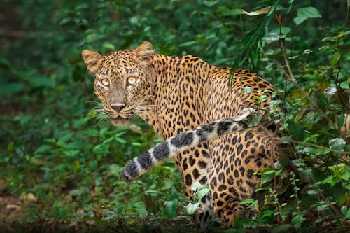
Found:
[[[208,184],[208,171],[211,162],[211,154],[207,143],[202,143],[190,150],[174,156],[175,163],[181,172],[183,191],[193,202],[193,183]],[[209,227],[214,223],[214,209],[210,193],[200,200],[200,206],[193,215],[193,221],[197,227]]]

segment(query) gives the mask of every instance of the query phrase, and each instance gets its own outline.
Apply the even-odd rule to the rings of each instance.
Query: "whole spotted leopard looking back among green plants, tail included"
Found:
[[[233,226],[246,216],[241,202],[254,195],[258,174],[273,167],[279,154],[267,127],[248,127],[246,120],[254,111],[269,113],[271,83],[250,69],[159,54],[148,41],[107,55],[93,50],[81,55],[111,123],[125,125],[139,115],[162,139],[127,162],[123,178],[133,180],[172,157],[190,202],[195,184],[209,188],[193,214],[198,227],[216,220]]]

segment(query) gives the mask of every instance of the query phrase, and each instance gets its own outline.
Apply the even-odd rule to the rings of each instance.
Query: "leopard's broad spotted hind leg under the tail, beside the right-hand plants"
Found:
[[[251,198],[260,178],[255,172],[272,167],[276,144],[260,132],[246,130],[214,141],[209,187],[214,211],[228,225],[244,216],[239,203]]]

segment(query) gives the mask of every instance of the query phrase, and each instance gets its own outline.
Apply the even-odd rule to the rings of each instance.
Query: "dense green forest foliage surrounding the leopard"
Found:
[[[266,6],[257,16],[241,10]],[[197,232],[188,213],[207,186],[194,187],[189,203],[172,161],[123,181],[123,164],[159,139],[137,117],[118,128],[99,117],[80,59],[85,48],[106,53],[141,41],[166,55],[254,67],[274,84],[281,159],[258,174],[265,199],[245,200],[249,218],[215,230],[349,227],[350,32],[343,1],[23,0],[0,8],[0,198],[21,201],[17,212],[10,212],[12,202],[0,211],[0,230]]]

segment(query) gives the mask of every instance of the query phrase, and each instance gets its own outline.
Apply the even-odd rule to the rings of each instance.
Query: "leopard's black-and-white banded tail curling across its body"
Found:
[[[245,119],[252,111],[253,108],[246,108],[242,115],[224,118],[172,136],[167,141],[163,141],[158,146],[147,150],[139,157],[134,157],[133,160],[128,161],[122,171],[123,178],[127,181],[132,181],[151,170],[155,165],[160,164],[169,157],[173,157],[176,153],[214,139],[217,136],[245,129]]]

